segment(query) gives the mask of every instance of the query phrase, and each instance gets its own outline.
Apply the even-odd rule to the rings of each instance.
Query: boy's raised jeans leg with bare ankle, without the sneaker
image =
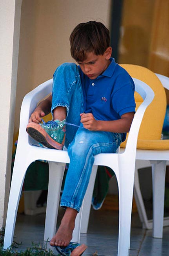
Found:
[[[83,91],[80,73],[75,63],[60,65],[53,75],[51,113],[54,120],[59,119],[56,113],[57,107],[65,108],[66,122],[80,125],[80,113],[83,112]],[[66,126],[66,147],[73,141],[76,131],[75,126]]]

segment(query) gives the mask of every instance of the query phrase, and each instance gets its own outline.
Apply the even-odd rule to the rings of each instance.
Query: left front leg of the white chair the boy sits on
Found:
[[[7,219],[5,225],[5,237],[4,237],[4,249],[10,247],[13,243],[13,235],[15,230],[16,215],[18,211],[18,204],[20,200],[20,195],[22,191],[22,186],[24,183],[24,178],[26,174],[27,167],[30,163],[25,160],[21,161],[16,159],[13,168],[13,176],[11,181],[11,190],[9,194],[9,202],[7,209]]]

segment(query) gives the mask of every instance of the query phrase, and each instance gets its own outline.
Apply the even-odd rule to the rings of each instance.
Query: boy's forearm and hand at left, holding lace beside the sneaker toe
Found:
[[[45,100],[42,100],[40,104],[35,108],[31,117],[29,118],[29,122],[40,123],[41,117],[49,114],[52,106],[52,95],[50,94]]]

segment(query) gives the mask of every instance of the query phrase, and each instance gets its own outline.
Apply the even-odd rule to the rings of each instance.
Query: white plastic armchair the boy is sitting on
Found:
[[[11,246],[13,242],[18,203],[27,167],[31,162],[39,159],[49,161],[49,187],[44,240],[50,240],[51,237],[53,237],[55,234],[60,188],[62,184],[65,163],[69,163],[69,156],[67,151],[33,146],[32,139],[26,133],[26,126],[31,113],[36,108],[37,103],[51,92],[52,82],[52,80],[49,80],[45,83],[42,83],[33,91],[28,93],[22,102],[18,145],[16,149],[7,210],[7,220],[5,226],[4,249],[7,249],[7,247]],[[91,175],[93,176],[94,173],[96,173],[98,165],[107,165],[112,168],[116,174],[119,187],[120,202],[118,256],[128,255],[130,245],[131,208],[133,199],[137,136],[145,109],[154,98],[153,90],[147,84],[137,79],[134,79],[134,83],[136,91],[142,96],[144,101],[134,116],[125,152],[122,154],[99,154],[95,156],[93,172]],[[90,182],[91,180],[92,177]],[[78,213],[76,217],[75,230],[73,232],[72,241],[79,241],[80,239],[81,211],[82,207],[80,213]]]

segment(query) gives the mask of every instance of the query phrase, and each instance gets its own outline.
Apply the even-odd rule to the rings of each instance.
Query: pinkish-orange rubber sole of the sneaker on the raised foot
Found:
[[[64,147],[65,135],[62,143],[58,143],[51,139],[51,137],[45,132],[45,130],[35,122],[30,122],[26,128],[27,133],[33,139],[41,143],[47,148],[59,149],[62,150]]]

